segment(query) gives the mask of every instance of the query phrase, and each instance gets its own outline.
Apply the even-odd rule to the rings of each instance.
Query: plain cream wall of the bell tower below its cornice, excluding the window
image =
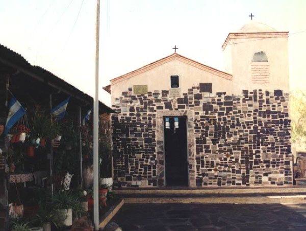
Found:
[[[264,52],[268,57],[269,84],[253,84],[251,63],[257,52]],[[225,70],[233,74],[234,93],[239,94],[241,89],[281,89],[289,93],[287,37],[230,39],[224,49],[224,61]]]

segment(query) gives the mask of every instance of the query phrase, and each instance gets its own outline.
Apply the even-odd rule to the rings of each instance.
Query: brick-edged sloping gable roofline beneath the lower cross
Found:
[[[163,59],[157,60],[155,62],[152,62],[152,63],[148,64],[148,65],[145,65],[145,66],[140,67],[140,68],[138,68],[136,70],[133,70],[133,71],[131,71],[129,73],[120,75],[119,77],[117,77],[115,79],[112,79],[111,80],[111,85],[117,84],[117,83],[119,83],[119,82],[121,82],[123,80],[130,79],[130,78],[132,78],[135,75],[138,75],[140,73],[143,73],[145,71],[153,69],[153,68],[155,68],[157,66],[165,64],[165,63],[170,62],[172,60],[180,60],[181,62],[187,63],[187,64],[189,64],[191,66],[194,66],[196,68],[199,68],[201,70],[205,70],[207,72],[213,73],[213,74],[215,74],[215,75],[217,75],[217,76],[219,76],[221,78],[224,78],[226,80],[232,80],[233,79],[233,75],[232,74],[229,74],[229,73],[217,70],[217,69],[209,67],[209,66],[206,66],[206,65],[201,64],[199,62],[196,62],[196,61],[194,61],[192,59],[188,59],[188,58],[186,58],[184,56],[181,56],[181,55],[179,55],[177,53],[173,53],[172,55],[167,56],[167,57],[165,57]]]

